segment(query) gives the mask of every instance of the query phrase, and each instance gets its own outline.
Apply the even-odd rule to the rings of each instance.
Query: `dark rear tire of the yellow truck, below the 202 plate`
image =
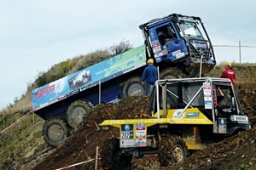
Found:
[[[131,168],[131,156],[122,155],[119,150],[118,139],[108,139],[106,141],[101,152],[103,169],[129,170]]]

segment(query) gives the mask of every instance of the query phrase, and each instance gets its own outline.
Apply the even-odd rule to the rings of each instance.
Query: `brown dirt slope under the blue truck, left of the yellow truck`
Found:
[[[97,105],[95,111],[85,121],[84,126],[33,169],[56,169],[93,159],[96,156],[96,146],[101,148],[107,139],[119,136],[118,128],[109,131],[97,131],[96,124],[100,124],[106,119],[144,118],[148,116],[148,96],[122,99],[118,105]],[[76,168],[94,169],[94,164],[95,161],[92,161]],[[99,167],[101,167],[100,162]]]

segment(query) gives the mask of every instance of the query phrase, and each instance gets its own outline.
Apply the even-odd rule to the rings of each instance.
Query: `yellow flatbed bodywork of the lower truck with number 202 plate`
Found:
[[[167,110],[166,118],[162,118],[163,115],[163,111],[160,110],[160,118],[155,113],[147,119],[105,120],[100,126],[118,127],[120,129],[120,144],[124,144],[123,147],[144,147],[148,145],[148,127],[154,125],[164,127],[164,125],[168,124],[191,125],[183,127],[183,140],[186,142],[189,150],[201,150],[201,136],[198,128],[193,125],[213,125],[213,122],[207,116],[197,108],[188,108],[185,111],[177,109]],[[125,125],[132,128],[132,130],[130,129],[131,132],[124,130]]]

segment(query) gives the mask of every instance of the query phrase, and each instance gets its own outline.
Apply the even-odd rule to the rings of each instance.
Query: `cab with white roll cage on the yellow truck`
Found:
[[[150,96],[149,111],[156,113],[153,117],[190,119],[192,124],[193,118],[203,116],[208,122],[201,120],[197,128],[205,140],[212,133],[218,139],[250,128],[232,82],[226,78],[160,80]]]

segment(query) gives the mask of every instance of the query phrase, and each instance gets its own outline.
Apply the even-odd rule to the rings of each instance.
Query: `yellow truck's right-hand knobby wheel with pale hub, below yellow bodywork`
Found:
[[[188,155],[188,146],[180,137],[172,135],[161,139],[158,150],[158,159],[161,167],[167,167],[174,163],[180,164]]]

